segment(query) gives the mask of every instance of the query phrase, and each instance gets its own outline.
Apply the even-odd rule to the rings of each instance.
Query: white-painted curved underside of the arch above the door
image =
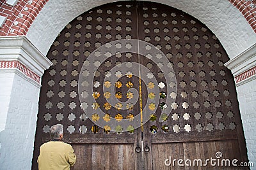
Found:
[[[246,19],[229,1],[152,0],[166,4],[203,22],[220,39],[230,59],[256,43],[256,34]],[[47,54],[58,33],[75,17],[95,6],[114,0],[54,0],[48,1],[27,34],[29,40]]]

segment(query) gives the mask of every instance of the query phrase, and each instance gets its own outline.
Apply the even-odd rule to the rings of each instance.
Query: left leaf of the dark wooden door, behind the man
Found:
[[[137,39],[136,15],[136,3],[134,2],[99,6],[72,20],[55,39],[47,54],[53,66],[45,71],[42,78],[33,169],[38,168],[36,159],[39,154],[39,147],[42,143],[49,141],[49,127],[54,124],[63,124],[65,136],[63,141],[73,145],[76,150],[77,164],[75,169],[141,169],[141,158],[138,157],[138,154],[134,155],[134,145],[137,145],[138,141],[141,140],[140,129],[135,129],[132,134],[128,132],[117,134],[106,132],[105,127],[95,127],[91,121],[92,117],[89,118],[88,111],[86,111],[86,108],[92,107],[88,105],[88,100],[93,94],[89,94],[87,91],[81,94],[78,92],[79,73],[81,73],[84,62],[94,50],[118,39]],[[100,53],[100,56],[97,53],[94,56],[95,62],[97,62],[97,57],[104,58],[107,56],[106,53]],[[95,71],[93,79],[93,82],[100,82],[99,88],[93,86],[93,92],[100,93],[96,99],[100,109],[113,118],[118,113],[122,115],[122,118],[127,118],[129,113],[134,116],[140,114],[139,103],[134,104],[133,110],[116,110],[115,106],[107,110],[104,107],[104,104],[107,103],[102,90],[103,86],[107,87],[104,85],[104,78],[111,68],[122,62],[138,63],[138,55],[136,53],[129,55],[111,53],[111,57],[105,60]],[[85,77],[94,74],[92,68],[97,64],[87,63],[87,65],[86,70],[81,73]],[[122,71],[121,69],[122,67],[120,71]],[[131,68],[129,71],[135,74],[138,69]],[[116,73],[111,73],[111,76],[115,77]],[[116,87],[115,92],[122,92],[120,101],[126,101],[127,81],[131,81],[133,87],[139,89],[139,79],[134,76],[124,76],[121,79],[122,87]],[[83,85],[93,85],[93,82],[84,80]],[[115,87],[115,82],[111,82],[111,85]],[[84,98],[82,103],[79,96]],[[113,96],[115,97],[115,93],[111,94],[111,97]],[[97,120],[99,118],[97,111],[94,112],[94,115],[95,120]],[[101,121],[102,119],[108,125],[108,118],[100,117]],[[117,120],[116,122],[120,123]],[[116,129],[111,130],[115,131]],[[90,154],[90,158],[86,153]],[[105,165],[102,165],[100,159]],[[131,164],[128,165],[128,162]]]

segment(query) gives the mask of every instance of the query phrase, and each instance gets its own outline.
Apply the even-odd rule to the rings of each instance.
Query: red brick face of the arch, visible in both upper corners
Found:
[[[13,7],[0,2],[0,15],[7,17],[3,27],[0,27],[0,36],[26,35],[30,25],[49,0],[19,0]],[[56,0],[53,0],[56,1]],[[224,1],[224,0],[223,0]],[[241,11],[244,18],[256,32],[256,0],[228,0]]]

